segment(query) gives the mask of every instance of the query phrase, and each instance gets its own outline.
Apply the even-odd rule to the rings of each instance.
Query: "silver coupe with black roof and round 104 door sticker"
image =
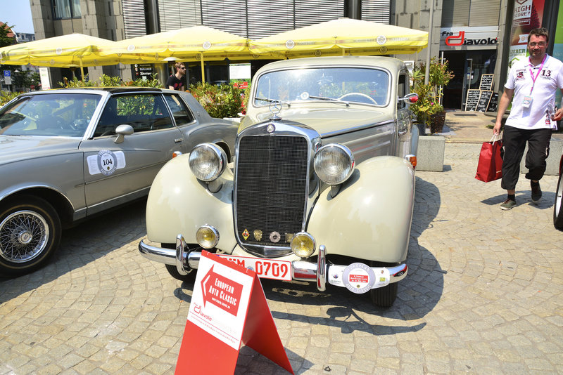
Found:
[[[234,154],[237,125],[189,93],[80,88],[18,96],[0,110],[0,276],[44,265],[61,230],[148,194],[202,142]]]

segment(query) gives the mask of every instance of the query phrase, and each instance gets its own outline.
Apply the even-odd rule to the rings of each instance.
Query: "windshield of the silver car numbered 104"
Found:
[[[52,93],[23,96],[0,113],[4,136],[82,137],[101,96]]]

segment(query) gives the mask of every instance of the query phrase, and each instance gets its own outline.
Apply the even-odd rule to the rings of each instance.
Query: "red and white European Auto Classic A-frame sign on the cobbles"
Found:
[[[203,251],[175,374],[234,374],[241,342],[293,374],[256,272]]]

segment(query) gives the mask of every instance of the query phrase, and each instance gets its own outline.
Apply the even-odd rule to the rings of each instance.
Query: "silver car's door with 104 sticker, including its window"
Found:
[[[119,136],[116,129],[122,124],[133,133]],[[93,137],[80,145],[87,213],[146,195],[156,173],[183,143],[160,93],[110,97]]]

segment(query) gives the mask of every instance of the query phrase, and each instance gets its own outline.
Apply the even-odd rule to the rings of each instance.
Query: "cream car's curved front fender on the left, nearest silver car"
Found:
[[[156,175],[146,202],[146,232],[152,242],[175,243],[182,234],[196,244],[196,230],[213,225],[219,231],[218,249],[232,251],[236,245],[232,211],[233,177],[229,169],[223,185],[211,193],[189,169],[189,154],[167,162]]]

